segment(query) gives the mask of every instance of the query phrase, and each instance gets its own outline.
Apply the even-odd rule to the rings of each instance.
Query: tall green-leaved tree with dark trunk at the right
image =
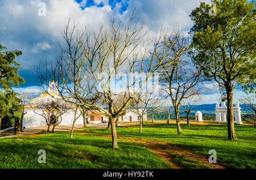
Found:
[[[228,101],[228,139],[234,131],[233,91],[237,84],[251,87],[255,82],[255,5],[254,1],[213,1],[217,8],[201,3],[191,13],[194,23],[191,57],[209,80],[225,87]],[[247,84],[247,85],[246,85]],[[252,87],[251,87],[252,88]]]

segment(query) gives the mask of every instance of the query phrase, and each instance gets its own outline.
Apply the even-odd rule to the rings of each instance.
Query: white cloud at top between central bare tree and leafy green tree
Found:
[[[137,0],[133,0],[130,5],[135,6],[137,2]],[[148,27],[150,27],[152,31],[160,29],[161,27],[173,28],[176,27],[176,25],[180,28],[190,28],[192,22],[189,14],[191,14],[195,7],[200,5],[200,2],[202,1],[141,0],[139,1],[139,12],[142,18],[147,18]],[[210,0],[203,2],[210,3]]]

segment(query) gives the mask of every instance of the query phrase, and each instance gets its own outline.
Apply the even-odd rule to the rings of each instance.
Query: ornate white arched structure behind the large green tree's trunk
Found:
[[[225,102],[217,102],[216,108],[215,108],[215,115],[216,115],[216,122],[226,122],[226,114],[228,113],[228,108],[225,104]],[[235,106],[233,106],[233,112],[234,112],[234,122],[242,125],[242,119],[241,119],[241,108],[236,103]]]

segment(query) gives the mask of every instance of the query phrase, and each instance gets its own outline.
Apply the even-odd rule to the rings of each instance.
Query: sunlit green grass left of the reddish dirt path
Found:
[[[113,150],[111,139],[80,134],[70,139],[69,132],[20,139],[25,140],[0,139],[0,168],[171,168],[137,144],[119,142]],[[40,149],[46,151],[46,164],[38,162]]]

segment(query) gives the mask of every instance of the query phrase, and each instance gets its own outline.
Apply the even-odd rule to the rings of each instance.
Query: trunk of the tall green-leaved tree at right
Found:
[[[237,139],[234,130],[234,115],[233,115],[233,92],[231,88],[226,88],[228,99],[228,139]]]

